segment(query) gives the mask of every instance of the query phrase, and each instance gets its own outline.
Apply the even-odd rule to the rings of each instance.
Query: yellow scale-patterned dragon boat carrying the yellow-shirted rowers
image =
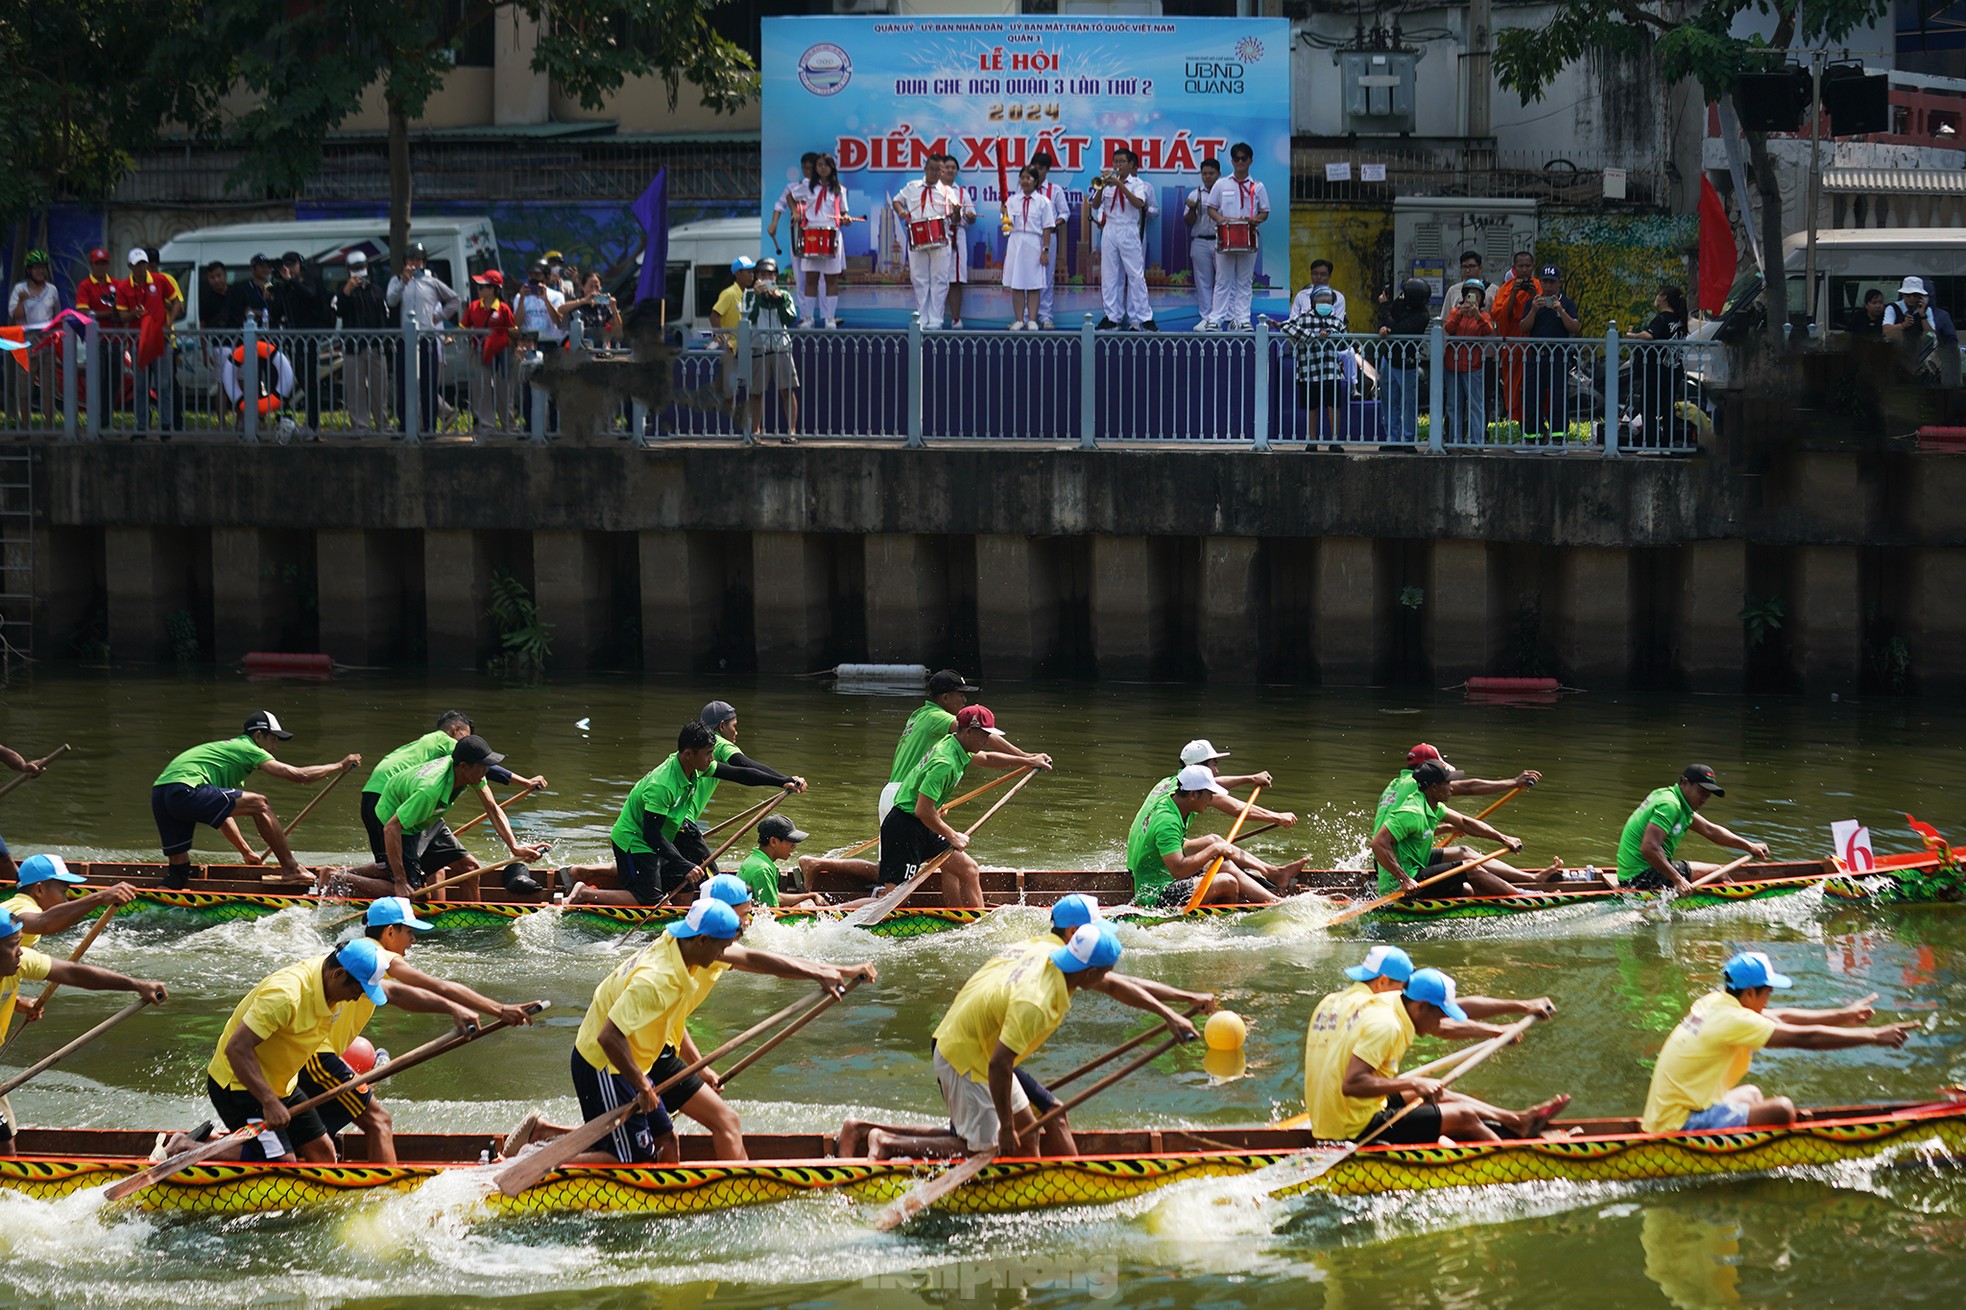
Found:
[[[1382,1196],[1498,1184],[1722,1178],[1852,1161],[1938,1166],[1966,1153],[1966,1102],[1805,1109],[1789,1127],[1703,1133],[1642,1133],[1634,1119],[1559,1119],[1551,1129],[1563,1135],[1368,1145],[1315,1180],[1282,1190]],[[1083,1155],[993,1161],[940,1206],[954,1214],[1007,1214],[1111,1204],[1178,1182],[1254,1174],[1305,1159],[1315,1147],[1307,1133],[1276,1127],[1081,1131],[1075,1139]],[[0,1188],[45,1200],[98,1188],[145,1168],[155,1141],[153,1131],[22,1129],[18,1155],[0,1159]],[[725,1164],[710,1159],[706,1135],[684,1135],[678,1164],[566,1164],[507,1198],[482,1164],[497,1147],[490,1135],[397,1133],[395,1143],[401,1157],[395,1164],[366,1162],[360,1135],[340,1139],[342,1159],[334,1164],[195,1164],[126,1204],[210,1216],[295,1210],[413,1192],[433,1178],[476,1168],[484,1178],[484,1206],[495,1216],[688,1216],[820,1192],[885,1204],[946,1166],[938,1161],[838,1159],[830,1133],[747,1135],[751,1159]]]

